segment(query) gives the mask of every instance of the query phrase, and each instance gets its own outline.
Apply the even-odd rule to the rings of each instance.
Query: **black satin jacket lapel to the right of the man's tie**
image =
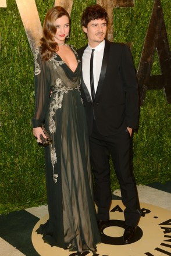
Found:
[[[102,90],[102,86],[104,84],[106,69],[107,69],[107,65],[108,65],[109,48],[110,48],[110,42],[105,40],[104,57],[102,60],[102,68],[101,68],[101,73],[99,76],[97,91],[95,94],[95,100],[98,99],[98,97],[101,93],[101,90]]]

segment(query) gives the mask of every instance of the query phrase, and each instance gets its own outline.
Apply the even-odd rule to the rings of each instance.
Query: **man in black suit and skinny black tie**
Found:
[[[83,63],[81,96],[90,136],[98,227],[102,231],[109,222],[111,155],[122,202],[126,206],[123,240],[130,243],[136,235],[140,219],[140,205],[131,169],[131,136],[138,119],[134,64],[126,45],[105,40],[108,14],[104,8],[100,5],[88,6],[81,23],[88,38],[88,45],[78,51]]]

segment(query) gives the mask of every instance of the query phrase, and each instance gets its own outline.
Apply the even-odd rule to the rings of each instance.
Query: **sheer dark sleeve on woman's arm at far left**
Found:
[[[40,127],[44,123],[49,100],[49,84],[47,79],[47,65],[42,61],[39,48],[34,54],[35,81],[35,112],[32,119],[33,127]]]

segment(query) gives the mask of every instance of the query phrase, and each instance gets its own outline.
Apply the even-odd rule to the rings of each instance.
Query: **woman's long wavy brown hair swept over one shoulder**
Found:
[[[62,6],[55,6],[48,10],[43,24],[43,37],[40,40],[42,60],[48,61],[52,58],[53,52],[58,51],[58,43],[54,40],[56,34],[55,21],[62,16],[67,16],[69,21],[69,13]]]

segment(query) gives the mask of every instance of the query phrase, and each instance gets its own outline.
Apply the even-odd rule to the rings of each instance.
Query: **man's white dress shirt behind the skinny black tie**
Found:
[[[105,40],[102,41],[97,47],[95,47],[94,51],[94,58],[93,58],[93,74],[94,74],[94,90],[95,93],[97,91],[99,76],[101,73],[101,67],[102,67],[102,59],[104,56],[104,48],[105,48]],[[91,88],[90,88],[90,58],[91,58],[91,50],[93,48],[90,47],[90,45],[87,46],[87,48],[84,51],[83,54],[83,80],[85,83],[85,86],[87,86],[87,90],[91,95]]]

